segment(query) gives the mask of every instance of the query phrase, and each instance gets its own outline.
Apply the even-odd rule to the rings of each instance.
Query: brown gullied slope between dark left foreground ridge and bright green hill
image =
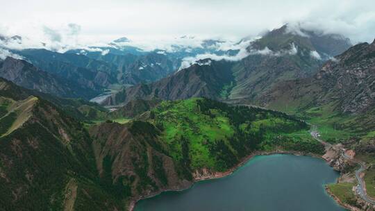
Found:
[[[101,178],[127,185],[134,199],[189,187],[192,182],[178,174],[178,166],[165,154],[158,130],[148,125],[152,127],[149,133],[140,134],[133,124],[138,123],[106,123],[90,128]]]

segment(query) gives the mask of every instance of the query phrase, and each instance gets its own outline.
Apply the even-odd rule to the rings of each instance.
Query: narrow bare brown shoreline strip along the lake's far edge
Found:
[[[215,180],[215,179],[219,179],[219,178],[224,178],[226,176],[230,176],[235,171],[240,169],[240,167],[243,167],[245,163],[249,162],[249,160],[256,157],[257,155],[275,155],[275,154],[309,156],[309,157],[318,158],[318,159],[324,160],[325,162],[328,162],[327,160],[322,158],[322,155],[317,155],[317,154],[314,154],[314,153],[303,153],[301,151],[279,151],[279,150],[276,150],[276,151],[256,151],[256,152],[251,153],[250,155],[247,155],[246,157],[244,157],[241,162],[236,164],[235,167],[232,167],[231,169],[228,169],[228,171],[212,172],[210,174],[206,174],[206,175],[203,175],[203,176],[194,176],[194,181],[192,181],[186,187],[181,187],[181,188],[178,188],[178,189],[160,189],[158,192],[153,192],[151,194],[147,194],[147,196],[140,196],[140,197],[138,197],[138,199],[133,199],[129,203],[128,210],[134,211],[135,205],[138,203],[138,201],[141,201],[141,200],[144,200],[144,199],[149,199],[149,198],[154,197],[154,196],[158,196],[159,194],[162,194],[163,192],[181,192],[185,189],[191,188],[194,184],[199,183],[201,181]],[[330,196],[331,196],[331,194],[330,194]],[[335,199],[335,197],[332,197],[332,198]],[[339,203],[340,205],[342,205],[338,200],[335,199],[335,201],[337,203]]]

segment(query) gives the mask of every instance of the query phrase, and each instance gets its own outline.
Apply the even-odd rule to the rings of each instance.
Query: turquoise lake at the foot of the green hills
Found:
[[[317,158],[260,155],[231,176],[139,201],[135,211],[344,211],[324,189],[338,176]]]

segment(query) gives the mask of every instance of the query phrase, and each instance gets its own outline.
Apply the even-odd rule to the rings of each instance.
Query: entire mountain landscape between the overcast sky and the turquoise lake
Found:
[[[9,39],[22,42],[0,37]],[[349,185],[339,180],[333,194],[371,208],[353,194],[355,168],[330,152],[355,152],[372,184],[375,40],[352,46],[285,25],[248,41],[226,50],[216,48],[223,40],[203,40],[143,51],[126,37],[65,53],[6,49],[17,58],[0,60],[0,207],[131,210],[226,175],[249,155],[283,151],[335,154],[329,162]]]

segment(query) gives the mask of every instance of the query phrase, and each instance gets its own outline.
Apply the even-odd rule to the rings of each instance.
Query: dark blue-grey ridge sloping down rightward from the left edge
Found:
[[[10,57],[0,63],[0,77],[22,87],[56,96],[82,96],[88,99],[99,93],[71,81],[64,81],[63,78],[38,69],[25,60]]]

